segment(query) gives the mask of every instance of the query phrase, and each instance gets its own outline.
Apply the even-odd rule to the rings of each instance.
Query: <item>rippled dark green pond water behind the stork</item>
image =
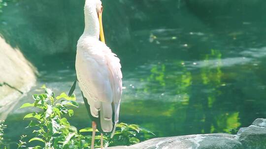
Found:
[[[0,14],[0,34],[40,72],[36,87],[9,114],[10,142],[27,130],[19,110],[42,84],[68,92],[83,1],[21,0]],[[227,132],[266,118],[264,0],[103,0],[107,45],[124,75],[120,122],[156,137]],[[80,102],[71,124],[90,126]],[[29,109],[30,111],[30,109]]]

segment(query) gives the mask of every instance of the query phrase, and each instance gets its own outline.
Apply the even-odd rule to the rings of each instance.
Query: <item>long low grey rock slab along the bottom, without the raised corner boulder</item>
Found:
[[[218,133],[151,139],[130,147],[108,149],[242,149],[238,136]]]

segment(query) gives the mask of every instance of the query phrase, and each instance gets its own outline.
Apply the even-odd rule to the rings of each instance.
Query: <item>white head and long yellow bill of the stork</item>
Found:
[[[102,10],[103,7],[101,5],[100,0],[85,0],[84,12],[86,14],[95,14],[97,13],[99,23],[100,23],[100,40],[105,43],[104,34],[103,34],[103,27],[102,27]]]

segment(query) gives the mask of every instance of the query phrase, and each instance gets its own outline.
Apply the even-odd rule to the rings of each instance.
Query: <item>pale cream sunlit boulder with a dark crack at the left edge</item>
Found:
[[[0,120],[6,118],[24,95],[22,93],[27,93],[35,84],[34,73],[33,66],[21,51],[12,48],[0,37]]]

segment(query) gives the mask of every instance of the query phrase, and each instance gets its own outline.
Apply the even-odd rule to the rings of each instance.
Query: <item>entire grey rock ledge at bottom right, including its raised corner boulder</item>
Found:
[[[106,149],[266,149],[266,119],[257,119],[236,135],[227,133],[197,134],[155,138],[133,146]]]

